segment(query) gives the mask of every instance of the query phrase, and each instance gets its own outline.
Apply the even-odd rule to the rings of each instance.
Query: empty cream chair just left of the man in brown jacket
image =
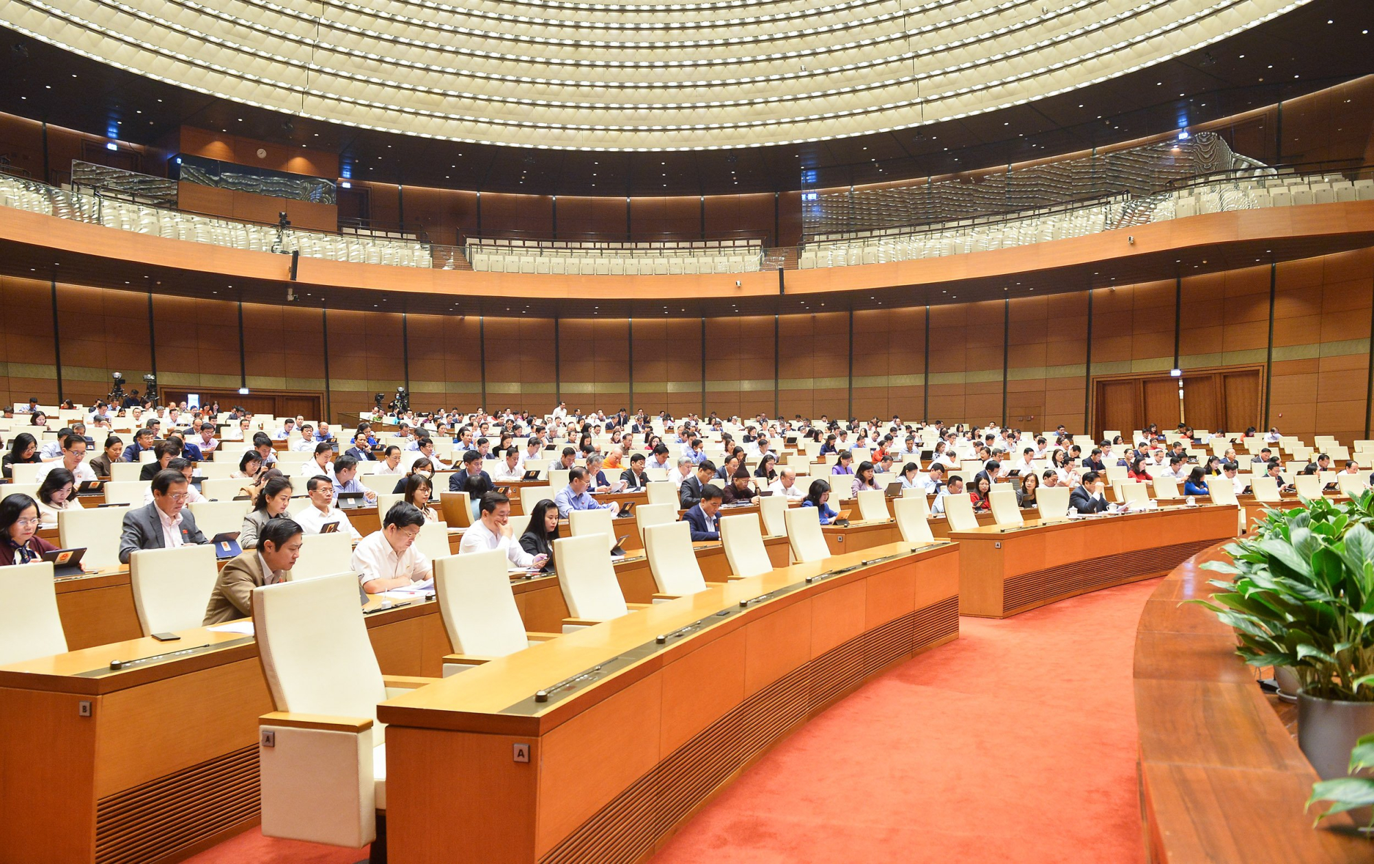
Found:
[[[214,547],[207,544],[131,555],[129,587],[143,635],[201,626],[218,573]]]

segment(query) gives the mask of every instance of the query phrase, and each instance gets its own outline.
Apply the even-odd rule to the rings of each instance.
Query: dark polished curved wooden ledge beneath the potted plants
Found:
[[[1154,589],[1135,637],[1140,729],[1140,810],[1151,861],[1369,863],[1374,848],[1342,813],[1312,828],[1303,804],[1316,772],[1254,672],[1235,655],[1231,628],[1182,604],[1215,589],[1205,560],[1179,565]]]

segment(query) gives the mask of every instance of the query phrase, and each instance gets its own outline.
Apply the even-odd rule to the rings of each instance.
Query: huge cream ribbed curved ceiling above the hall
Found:
[[[959,120],[1311,0],[4,0],[14,30],[236,103],[449,141],[742,148]]]

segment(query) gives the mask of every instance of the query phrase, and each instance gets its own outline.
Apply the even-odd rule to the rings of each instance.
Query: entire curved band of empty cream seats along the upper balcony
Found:
[[[1374,201],[1374,168],[1311,173],[1289,169],[1231,170],[1143,196],[1121,195],[1052,210],[962,220],[921,231],[853,232],[798,247],[765,247],[761,240],[747,238],[646,243],[471,238],[466,247],[460,247],[407,239],[400,234],[356,229],[330,234],[199,216],[56,188],[0,172],[0,206],[120,231],[254,251],[298,251],[328,261],[464,271],[485,266],[488,272],[585,276],[747,273],[883,264],[1010,249],[1206,213],[1353,201]]]

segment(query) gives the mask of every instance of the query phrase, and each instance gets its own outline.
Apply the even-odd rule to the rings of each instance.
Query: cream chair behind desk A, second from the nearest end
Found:
[[[502,549],[434,559],[436,602],[453,647],[444,658],[445,677],[554,637],[525,632],[506,574],[508,565]]]

